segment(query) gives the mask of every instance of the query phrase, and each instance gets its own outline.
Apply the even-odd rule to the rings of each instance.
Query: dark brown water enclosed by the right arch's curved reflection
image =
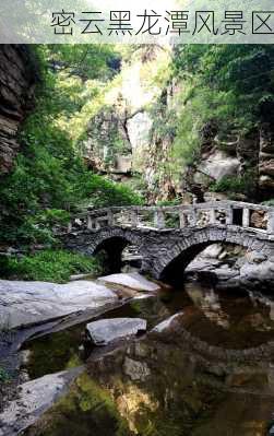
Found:
[[[191,284],[186,293],[193,307],[184,308],[184,328],[210,345],[224,349],[259,346],[273,339],[270,297],[240,290],[215,290]]]

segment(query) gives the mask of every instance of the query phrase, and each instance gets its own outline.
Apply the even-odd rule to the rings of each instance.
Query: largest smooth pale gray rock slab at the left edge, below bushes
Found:
[[[0,280],[0,329],[45,322],[116,303],[116,293],[103,284],[68,284]]]

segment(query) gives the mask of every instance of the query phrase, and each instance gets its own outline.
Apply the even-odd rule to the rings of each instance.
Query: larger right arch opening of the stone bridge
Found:
[[[210,252],[210,247],[213,249]],[[215,252],[214,252],[215,251]],[[177,255],[162,271],[159,280],[180,287],[186,278],[195,271],[199,279],[209,278],[212,283],[217,281],[214,268],[227,264],[234,268],[239,258],[246,256],[247,247],[229,241],[205,241],[188,247]],[[199,260],[199,264],[193,261]],[[192,263],[193,262],[193,263]],[[211,266],[213,268],[211,268]],[[200,274],[199,274],[200,273]]]

